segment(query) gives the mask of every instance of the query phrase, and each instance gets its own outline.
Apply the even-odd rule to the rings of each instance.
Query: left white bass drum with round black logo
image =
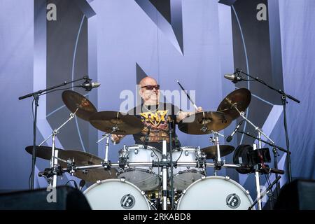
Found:
[[[141,190],[121,179],[98,181],[83,194],[93,210],[151,210]]]

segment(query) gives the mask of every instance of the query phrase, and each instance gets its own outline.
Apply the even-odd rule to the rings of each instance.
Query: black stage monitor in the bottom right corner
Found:
[[[315,180],[295,180],[281,188],[275,210],[315,210]]]

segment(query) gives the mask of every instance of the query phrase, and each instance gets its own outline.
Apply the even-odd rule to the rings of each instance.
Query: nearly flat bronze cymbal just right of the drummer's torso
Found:
[[[192,120],[193,116],[195,116],[194,120]],[[183,118],[179,122],[179,130],[187,134],[210,134],[211,130],[218,132],[232,122],[230,116],[218,111],[204,111],[193,116]]]

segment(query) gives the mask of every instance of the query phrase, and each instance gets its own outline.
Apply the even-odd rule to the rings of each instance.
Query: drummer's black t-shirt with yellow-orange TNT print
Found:
[[[144,123],[144,129],[134,134],[135,144],[153,146],[162,151],[162,141],[167,141],[169,151],[169,123],[167,118],[173,118],[181,111],[177,106],[168,103],[146,106],[141,104],[128,111],[128,114],[137,116]],[[175,127],[174,129],[175,130]],[[181,144],[175,133],[172,134],[172,148],[178,148]]]

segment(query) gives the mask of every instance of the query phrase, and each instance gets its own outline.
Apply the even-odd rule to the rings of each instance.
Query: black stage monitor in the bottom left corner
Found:
[[[55,195],[53,195],[55,194]],[[80,190],[69,186],[23,190],[0,195],[0,210],[90,210]]]

